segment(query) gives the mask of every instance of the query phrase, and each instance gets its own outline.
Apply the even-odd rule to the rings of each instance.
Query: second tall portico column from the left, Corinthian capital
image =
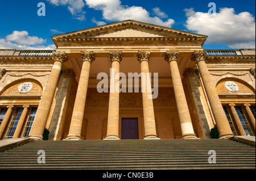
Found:
[[[82,69],[77,87],[76,100],[68,136],[65,140],[81,140],[82,121],[84,120],[85,101],[88,89],[90,65],[95,60],[93,52],[81,52]]]

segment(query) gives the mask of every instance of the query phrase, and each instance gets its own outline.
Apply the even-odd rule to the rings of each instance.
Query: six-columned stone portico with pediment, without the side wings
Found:
[[[56,140],[120,140],[127,131],[139,139],[197,139],[209,138],[209,125],[214,123],[220,138],[233,136],[215,85],[209,81],[202,48],[207,36],[127,20],[52,39],[57,50],[28,137],[42,140],[44,128],[54,127]],[[200,96],[205,100],[200,103],[195,102],[189,85],[188,71],[195,73],[195,68],[204,85],[201,93],[205,95]],[[107,86],[106,92],[97,89],[101,73],[108,78],[102,85]],[[62,115],[49,120],[61,92],[58,78],[62,74],[67,92],[61,107],[56,107]],[[129,78],[136,74],[141,75],[139,81]],[[126,75],[126,85],[120,84],[121,75]],[[131,89],[120,91],[125,86]],[[209,118],[202,122],[195,111],[207,103],[210,111],[205,107],[204,112],[212,117],[205,115]],[[25,113],[28,108],[24,107]],[[253,115],[248,115],[255,127]]]

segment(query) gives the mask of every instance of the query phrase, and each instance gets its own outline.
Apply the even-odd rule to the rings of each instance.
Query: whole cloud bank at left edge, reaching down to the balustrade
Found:
[[[46,43],[46,40],[37,36],[28,36],[27,31],[14,31],[7,35],[5,39],[0,39],[0,49],[56,49],[54,44],[46,47],[41,45],[43,43]]]

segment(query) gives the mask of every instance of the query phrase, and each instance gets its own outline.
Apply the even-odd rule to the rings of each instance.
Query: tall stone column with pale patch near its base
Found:
[[[172,84],[174,85],[174,94],[179,114],[180,128],[182,138],[197,138],[193,130],[191,116],[188,110],[188,104],[185,97],[185,92],[181,82],[180,71],[177,65],[177,56],[179,52],[166,52],[165,60],[169,63],[172,75]]]

